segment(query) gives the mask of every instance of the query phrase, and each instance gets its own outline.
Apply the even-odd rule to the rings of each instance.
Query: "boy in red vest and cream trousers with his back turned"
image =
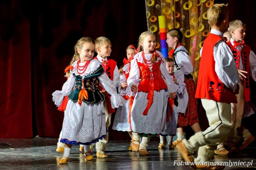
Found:
[[[223,142],[231,129],[231,104],[237,103],[239,76],[232,52],[223,33],[228,27],[229,11],[225,4],[214,4],[207,11],[211,32],[204,40],[200,59],[196,98],[201,99],[209,125],[189,140],[183,139],[176,148],[186,162],[199,162],[194,169],[223,169],[221,166],[205,165],[214,154],[216,146]],[[197,158],[193,159],[198,149]]]

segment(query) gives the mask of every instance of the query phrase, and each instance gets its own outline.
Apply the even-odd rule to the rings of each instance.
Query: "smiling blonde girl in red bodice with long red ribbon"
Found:
[[[156,38],[151,31],[139,37],[139,48],[131,61],[127,79],[127,95],[134,96],[131,108],[132,150],[147,155],[150,137],[157,136],[166,129],[166,109],[168,95],[175,97],[178,86],[170,79],[165,61],[159,51],[155,51]],[[142,141],[140,143],[140,136]]]

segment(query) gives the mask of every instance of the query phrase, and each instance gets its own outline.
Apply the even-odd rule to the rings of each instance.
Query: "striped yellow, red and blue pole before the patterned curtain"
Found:
[[[160,32],[160,47],[161,47],[161,53],[163,54],[163,57],[168,57],[168,46],[166,43],[166,24],[165,24],[165,16],[160,15],[158,16],[158,23],[159,23],[159,32]]]

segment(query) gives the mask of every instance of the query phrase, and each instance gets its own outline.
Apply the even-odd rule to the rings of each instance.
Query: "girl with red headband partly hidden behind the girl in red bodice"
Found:
[[[131,106],[134,97],[128,97],[125,94],[127,87],[127,78],[129,77],[130,72],[130,61],[133,56],[137,53],[136,48],[132,45],[128,46],[126,49],[127,59],[124,58],[124,66],[120,68],[120,82],[118,84],[118,92],[120,95],[126,99],[126,104],[117,108],[114,123],[112,126],[113,130],[117,131],[127,131],[132,138],[132,130],[131,130]],[[129,151],[132,150],[131,145],[129,146]]]

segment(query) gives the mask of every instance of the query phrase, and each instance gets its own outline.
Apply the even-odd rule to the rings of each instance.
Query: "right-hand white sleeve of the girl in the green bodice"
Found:
[[[114,82],[109,79],[108,75],[106,75],[106,73],[102,73],[98,78],[104,89],[111,95],[111,107],[117,108],[119,106],[123,106],[126,101],[121,95],[117,94]]]

